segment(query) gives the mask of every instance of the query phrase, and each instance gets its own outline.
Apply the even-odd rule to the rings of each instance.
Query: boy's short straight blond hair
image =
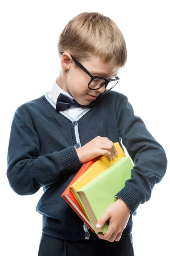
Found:
[[[62,30],[57,43],[60,52],[72,54],[81,63],[102,58],[109,67],[124,67],[127,61],[125,39],[111,18],[99,12],[82,12]]]

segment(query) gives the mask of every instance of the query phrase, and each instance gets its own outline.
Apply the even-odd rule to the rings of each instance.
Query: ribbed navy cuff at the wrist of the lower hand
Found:
[[[114,197],[116,198],[116,196],[127,204],[131,211],[130,215],[133,215],[133,213],[136,212],[136,209],[142,203],[138,192],[129,185],[124,186],[124,188],[122,188],[122,190],[120,190]]]

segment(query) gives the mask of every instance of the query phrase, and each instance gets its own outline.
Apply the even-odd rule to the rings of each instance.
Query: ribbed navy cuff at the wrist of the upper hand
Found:
[[[63,172],[77,172],[82,167],[74,146],[59,151],[59,156],[64,166]]]

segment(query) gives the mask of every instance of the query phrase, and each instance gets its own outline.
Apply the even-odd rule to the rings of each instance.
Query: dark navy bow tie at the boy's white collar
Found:
[[[75,99],[71,99],[69,96],[60,93],[57,98],[56,110],[57,111],[65,111],[70,107],[84,107],[91,108],[95,106],[95,102],[92,101],[89,105],[81,105]]]

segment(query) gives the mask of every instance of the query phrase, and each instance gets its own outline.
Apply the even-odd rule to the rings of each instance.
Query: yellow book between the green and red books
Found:
[[[80,207],[83,209],[82,204],[79,201],[79,197],[77,195],[77,191],[81,189],[83,186],[85,186],[89,181],[93,180],[97,175],[101,174],[103,171],[108,169],[110,166],[112,166],[114,163],[116,163],[120,158],[126,157],[124,151],[122,150],[121,146],[119,145],[119,142],[114,143],[114,146],[116,148],[116,151],[118,153],[117,156],[115,156],[114,159],[108,160],[108,157],[105,155],[102,155],[99,157],[98,160],[96,160],[95,163],[92,164],[88,168],[87,171],[85,171],[70,187],[72,194],[76,198],[77,202],[79,203]],[[84,210],[84,209],[83,209]]]

